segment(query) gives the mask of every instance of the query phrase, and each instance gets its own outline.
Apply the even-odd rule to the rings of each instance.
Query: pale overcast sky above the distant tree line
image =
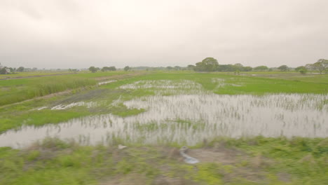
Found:
[[[0,0],[0,62],[86,68],[328,58],[327,0]]]

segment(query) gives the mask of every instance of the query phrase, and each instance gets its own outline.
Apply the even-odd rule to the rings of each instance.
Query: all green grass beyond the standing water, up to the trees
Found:
[[[40,78],[25,78],[0,81],[2,87],[0,95],[0,104],[10,104],[13,102],[20,102],[28,100],[32,97],[39,97],[50,93],[60,92],[71,88],[78,88],[85,85],[93,85],[95,81],[92,79],[95,76],[103,75],[116,76],[116,74],[129,74],[123,71],[115,71],[108,73],[86,73],[86,74],[69,74],[64,76],[45,76]],[[132,73],[133,74],[133,73]],[[89,78],[83,78],[86,75]],[[86,77],[85,76],[85,77]],[[157,71],[142,76],[132,76],[130,78],[122,78],[114,83],[108,83],[96,88],[84,89],[83,91],[76,91],[73,95],[61,95],[46,100],[34,100],[32,102],[25,102],[15,106],[0,108],[0,132],[4,132],[11,128],[18,128],[23,123],[44,125],[47,123],[60,123],[67,121],[70,118],[93,114],[107,114],[112,113],[118,116],[132,116],[139,114],[144,110],[127,109],[126,107],[98,107],[97,109],[79,109],[74,108],[69,111],[31,111],[37,107],[48,106],[49,104],[55,106],[62,103],[72,103],[79,101],[107,101],[110,104],[112,101],[121,97],[121,100],[132,100],[135,97],[142,97],[146,95],[154,95],[153,90],[117,90],[121,85],[134,83],[142,80],[172,80],[181,81],[189,80],[200,83],[205,90],[217,94],[251,94],[264,95],[266,93],[328,93],[328,84],[322,80],[315,80],[327,78],[328,75],[303,76],[293,77],[293,79],[278,79],[278,78],[264,78],[257,76],[236,76],[222,73],[196,73],[192,71]],[[91,78],[92,77],[92,78]],[[221,78],[226,85],[217,87],[217,83],[213,83],[213,78]],[[297,81],[294,78],[298,78]],[[315,81],[315,82],[312,82]],[[232,84],[239,84],[235,86]],[[4,90],[7,88],[7,90]],[[103,93],[97,93],[97,92]],[[50,116],[53,114],[53,116]],[[47,117],[47,118],[45,118]],[[27,120],[32,120],[29,122]]]

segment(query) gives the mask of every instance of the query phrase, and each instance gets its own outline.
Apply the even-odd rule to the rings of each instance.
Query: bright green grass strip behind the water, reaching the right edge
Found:
[[[222,88],[217,88],[217,84],[212,83],[212,78],[224,79],[226,83],[241,83],[242,85],[233,86],[226,85]],[[170,73],[156,73],[146,76],[140,76],[137,78],[130,78],[125,81],[119,81],[117,83],[107,85],[109,88],[117,88],[120,85],[127,83],[133,83],[140,80],[190,80],[196,81],[203,85],[206,90],[213,90],[217,94],[252,94],[263,95],[265,93],[328,93],[328,83],[324,80],[315,81],[316,78],[328,78],[328,75],[318,76],[311,80],[306,80],[302,76],[297,77],[297,81],[293,79],[275,79],[264,78],[255,76],[235,76],[226,75],[221,73],[193,73],[193,72],[170,72]],[[315,81],[315,82],[313,82]]]

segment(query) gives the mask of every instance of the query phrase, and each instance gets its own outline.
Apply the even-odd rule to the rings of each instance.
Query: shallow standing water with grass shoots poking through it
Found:
[[[81,144],[123,141],[193,145],[221,136],[328,136],[327,95],[216,95],[190,81],[139,81],[120,88],[152,88],[156,95],[122,102],[128,109],[145,110],[135,116],[103,114],[56,125],[23,126],[0,135],[0,146],[17,148],[45,137],[74,139]],[[168,92],[170,95],[162,95]],[[121,101],[120,97],[112,104],[118,106]]]

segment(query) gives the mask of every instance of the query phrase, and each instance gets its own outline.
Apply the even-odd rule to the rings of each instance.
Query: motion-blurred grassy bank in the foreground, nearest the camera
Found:
[[[230,160],[188,165],[172,146],[128,145],[118,150],[116,145],[79,146],[48,138],[28,149],[0,148],[0,184],[156,184],[160,179],[179,179],[180,184],[327,182],[327,139],[221,138],[197,149],[230,153]]]

